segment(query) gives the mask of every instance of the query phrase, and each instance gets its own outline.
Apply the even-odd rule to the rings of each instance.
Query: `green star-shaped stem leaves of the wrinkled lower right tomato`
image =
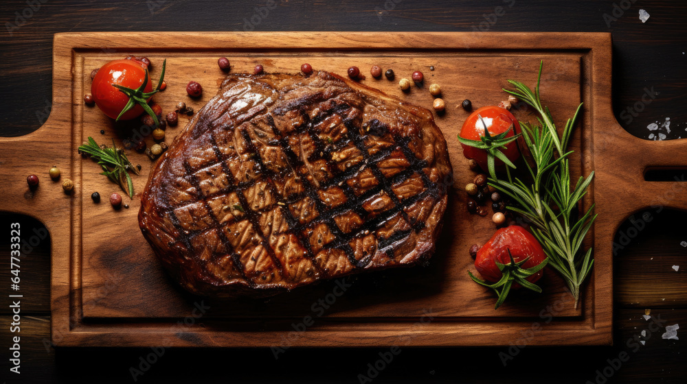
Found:
[[[499,296],[499,300],[496,301],[496,307],[494,307],[494,309],[499,309],[501,304],[503,304],[504,301],[506,301],[506,296],[508,296],[508,292],[510,292],[510,287],[513,286],[513,283],[518,283],[519,285],[527,289],[532,289],[532,291],[541,293],[541,288],[539,287],[539,285],[530,283],[528,280],[526,280],[526,278],[541,271],[541,269],[546,266],[546,263],[548,263],[548,258],[546,258],[541,263],[534,265],[534,267],[523,269],[520,266],[523,265],[530,258],[526,257],[525,259],[518,261],[516,263],[513,259],[513,254],[510,253],[510,249],[506,248],[506,250],[508,250],[510,263],[502,264],[498,261],[495,262],[496,266],[499,267],[499,271],[501,271],[502,273],[501,280],[497,281],[496,283],[489,284],[484,280],[476,278],[472,274],[472,272],[468,271],[470,278],[472,278],[475,283],[493,289],[496,292],[497,296]]]

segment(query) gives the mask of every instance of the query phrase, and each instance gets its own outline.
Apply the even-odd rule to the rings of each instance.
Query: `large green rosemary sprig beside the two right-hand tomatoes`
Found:
[[[543,62],[539,66],[534,91],[514,80],[508,82],[515,87],[515,91],[504,89],[525,101],[539,114],[539,125],[520,122],[523,138],[534,160],[534,167],[525,162],[534,182],[526,184],[519,178],[513,178],[506,168],[508,180],[492,175],[489,184],[517,202],[517,206],[508,206],[510,211],[532,221],[534,236],[548,256],[548,264],[563,276],[577,307],[580,287],[594,265],[592,248],[583,252],[582,243],[596,219],[593,204],[582,217],[577,214],[577,208],[587,193],[594,172],[587,178],[579,178],[574,186],[571,184],[567,158],[573,151],[567,151],[567,145],[582,104],[572,119],[567,120],[563,134],[559,136],[551,113],[541,105],[539,98],[542,68]]]

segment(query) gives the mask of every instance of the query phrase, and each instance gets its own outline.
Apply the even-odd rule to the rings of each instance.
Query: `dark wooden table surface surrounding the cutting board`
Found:
[[[504,7],[505,14],[491,16],[498,6]],[[646,23],[638,19],[640,8],[651,14]],[[613,110],[618,121],[644,139],[663,138],[659,134],[664,134],[665,139],[679,139],[687,136],[686,20],[684,0],[3,1],[0,134],[26,134],[47,118],[52,89],[52,36],[56,32],[477,29],[612,32]],[[645,94],[654,97],[645,96],[642,101]],[[670,132],[666,119],[671,122]],[[659,128],[649,130],[651,123]],[[684,173],[684,169],[678,169],[648,177],[684,178]],[[687,241],[686,215],[662,207],[647,209],[646,213],[651,218],[646,225],[635,225],[642,228],[633,230],[633,224],[627,222],[616,236],[620,246],[614,255],[613,347],[525,347],[506,365],[502,356],[508,354],[508,348],[403,348],[372,381],[682,383],[687,378],[687,334],[679,334],[684,335],[679,341],[662,339],[661,335],[666,325],[687,324],[687,243],[681,245]],[[148,366],[142,365],[141,358],[150,349],[55,350],[49,345],[49,241],[43,236],[41,224],[29,217],[0,215],[0,228],[6,228],[7,234],[0,237],[2,291],[9,294],[9,288],[5,288],[11,277],[9,228],[15,221],[22,228],[35,230],[35,237],[27,237],[23,250],[27,256],[21,265],[23,287],[30,288],[25,289],[22,299],[19,375],[9,372],[11,303],[3,293],[3,382],[120,383],[132,381],[131,369],[135,368],[140,370],[135,379],[150,383],[365,383],[369,381],[359,374],[368,374],[368,363],[374,363],[379,353],[385,352],[379,348],[292,348],[275,360],[268,349],[164,350],[158,351],[161,357]],[[681,264],[679,272],[671,268]],[[649,329],[650,323],[642,318],[646,309],[651,309],[653,319],[660,320],[660,328]],[[640,340],[645,344],[639,344]],[[370,373],[374,376],[374,372]]]

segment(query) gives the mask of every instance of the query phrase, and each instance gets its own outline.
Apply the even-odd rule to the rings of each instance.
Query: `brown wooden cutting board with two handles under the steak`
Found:
[[[296,73],[304,62],[315,69],[345,74],[351,65],[366,75],[363,84],[431,108],[431,83],[442,87],[447,111],[436,122],[447,139],[455,184],[436,254],[426,267],[365,274],[320,283],[267,300],[212,300],[191,296],[168,278],[142,236],[137,222],[139,195],[124,197],[129,208],[115,211],[108,196],[119,191],[76,147],[93,136],[117,145],[139,129],[139,122],[117,123],[98,108],[85,106],[91,70],[128,54],[153,62],[157,82],[167,59],[166,91],[155,101],[169,112],[177,101],[196,111],[216,93],[225,73],[217,58],[226,56],[232,72]],[[455,136],[475,108],[506,99],[506,79],[534,86],[544,61],[541,95],[563,126],[576,106],[585,107],[574,133],[571,164],[576,176],[596,171],[585,206],[596,204],[598,220],[587,239],[594,245],[594,274],[574,308],[572,296],[552,270],[541,280],[544,293],[515,292],[494,310],[493,292],[473,283],[468,250],[495,230],[491,215],[469,215],[462,187],[475,173]],[[394,69],[396,81],[372,78],[379,65]],[[414,70],[425,73],[423,86],[409,93],[397,81]],[[203,97],[190,99],[185,84],[195,80]],[[682,141],[653,143],[625,132],[611,111],[610,34],[575,33],[67,33],[54,39],[52,113],[32,134],[0,138],[0,209],[41,220],[52,245],[52,338],[58,346],[485,346],[611,344],[612,246],[620,222],[651,205],[686,208],[684,195],[670,193],[676,182],[646,182],[648,167],[687,165]],[[534,121],[532,110],[514,110]],[[171,143],[190,117],[168,128]],[[100,131],[104,130],[104,134]],[[153,141],[146,138],[148,145]],[[153,163],[128,151],[142,175],[143,191]],[[53,165],[62,170],[50,180]],[[38,189],[25,178],[35,173]],[[65,178],[76,187],[67,195]],[[100,204],[91,201],[98,191]],[[124,193],[122,193],[124,195]],[[491,208],[488,208],[491,213]],[[343,289],[342,287],[345,287]],[[305,331],[303,331],[305,330]]]

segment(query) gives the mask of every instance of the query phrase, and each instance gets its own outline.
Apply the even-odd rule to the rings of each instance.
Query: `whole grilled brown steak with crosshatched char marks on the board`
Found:
[[[332,73],[229,75],[139,225],[189,291],[263,296],[429,259],[452,178],[429,110]]]

